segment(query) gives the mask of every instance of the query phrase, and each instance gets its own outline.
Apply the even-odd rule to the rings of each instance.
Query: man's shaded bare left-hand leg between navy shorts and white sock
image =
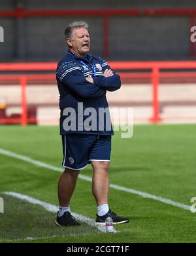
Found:
[[[58,182],[59,205],[68,207],[76,186],[79,171],[65,169]]]

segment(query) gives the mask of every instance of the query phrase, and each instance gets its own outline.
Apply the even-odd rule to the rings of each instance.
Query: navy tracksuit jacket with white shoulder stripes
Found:
[[[114,72],[114,75],[111,77],[104,77],[103,73],[106,68],[110,68],[110,66],[108,66],[105,60],[99,56],[87,54],[85,57],[78,57],[71,53],[71,51],[68,51],[67,55],[59,61],[56,78],[60,95],[59,108],[61,110],[61,135],[67,133],[113,135],[111,123],[108,129],[108,125],[106,126],[106,121],[108,121],[108,119],[106,120],[106,118],[104,118],[101,120],[99,118],[99,111],[100,109],[104,110],[108,108],[106,91],[116,91],[117,89],[120,89],[121,81],[120,75],[117,75]],[[86,81],[86,77],[92,77],[93,84]],[[82,106],[84,111],[83,120],[80,118],[80,121],[78,121],[77,118],[78,116],[81,117],[81,113],[78,113],[78,102],[81,102],[80,106]],[[64,129],[65,121],[67,121],[67,117],[71,115],[71,113],[68,113],[69,108],[73,108],[76,112],[75,129],[72,129],[71,131]],[[85,129],[85,120],[88,121],[87,118],[91,116],[91,114],[85,114],[87,108],[93,108],[93,114],[97,114],[97,125],[90,131]],[[89,111],[87,112],[89,113]]]

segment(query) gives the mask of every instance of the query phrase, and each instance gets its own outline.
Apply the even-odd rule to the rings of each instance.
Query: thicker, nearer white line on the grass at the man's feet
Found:
[[[44,207],[44,209],[46,209],[46,211],[50,211],[52,213],[57,213],[57,211],[59,209],[56,205],[52,205],[50,203],[42,202],[40,200],[37,200],[35,198],[31,198],[31,196],[27,196],[27,195],[24,195],[24,194],[12,192],[12,191],[3,192],[3,194],[6,194],[8,196],[13,196],[14,198],[19,198],[20,200],[25,200],[29,203],[41,205],[42,207]],[[93,219],[90,219],[90,218],[88,218],[84,215],[80,215],[78,213],[72,213],[72,214],[76,219],[78,219],[82,223],[86,223],[90,226],[95,226],[95,228],[98,228],[101,232],[106,232],[105,231],[105,226],[101,226],[99,224],[96,224]]]

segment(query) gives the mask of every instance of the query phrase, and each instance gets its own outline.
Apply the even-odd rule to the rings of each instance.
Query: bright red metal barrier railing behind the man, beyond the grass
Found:
[[[178,77],[178,79],[196,78],[196,61],[109,62],[109,65],[121,75],[122,81],[127,79],[150,79],[152,84],[151,105],[153,114],[148,119],[151,123],[158,123],[163,120],[163,117],[159,114],[160,79],[171,77]],[[16,81],[18,81],[21,92],[21,115],[17,117],[3,117],[1,114],[0,123],[21,123],[23,126],[28,123],[37,123],[36,117],[32,117],[28,113],[27,85],[29,81],[31,81],[31,83],[33,81],[33,84],[36,84],[36,81],[42,81],[42,83],[47,84],[48,80],[53,80],[53,83],[55,83],[56,75],[54,71],[56,70],[56,66],[57,64],[54,62],[0,64],[0,85],[5,85],[7,81],[14,81],[14,84],[16,84]],[[136,70],[137,72],[135,72]],[[31,74],[32,72],[34,72],[34,74]],[[48,72],[50,72],[50,74],[48,74]],[[196,105],[196,102],[193,102],[193,104]],[[5,105],[6,104],[2,104],[1,106],[0,102],[1,109],[5,109]],[[131,102],[129,105],[131,106]]]

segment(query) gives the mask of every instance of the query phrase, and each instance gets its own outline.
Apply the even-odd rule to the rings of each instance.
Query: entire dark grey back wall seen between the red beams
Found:
[[[13,10],[19,2],[25,9],[34,10],[196,8],[193,0],[1,0],[0,10]],[[91,53],[103,56],[103,17],[29,17],[20,24],[15,18],[0,17],[0,26],[5,28],[5,43],[0,43],[0,61],[57,61],[67,51],[63,33],[73,20],[86,20],[90,24]],[[22,30],[18,26],[22,26]],[[191,58],[189,17],[113,16],[109,26],[110,60]]]

